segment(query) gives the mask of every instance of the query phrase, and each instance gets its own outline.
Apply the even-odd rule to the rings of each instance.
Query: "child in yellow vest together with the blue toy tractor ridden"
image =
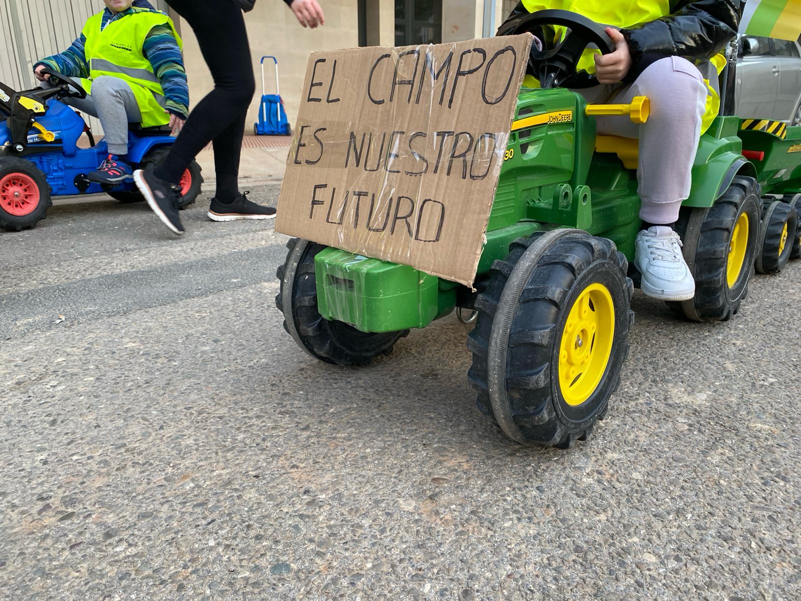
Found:
[[[34,65],[39,88],[0,83],[0,229],[18,232],[46,217],[53,196],[106,192],[143,200],[133,167],[158,164],[188,112],[180,38],[145,0],[105,0],[79,37]],[[73,107],[100,119],[94,135]],[[78,144],[87,135],[90,147]],[[193,162],[181,180],[186,207],[203,177]]]

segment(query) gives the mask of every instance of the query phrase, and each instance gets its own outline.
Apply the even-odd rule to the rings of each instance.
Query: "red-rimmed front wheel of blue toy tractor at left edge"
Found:
[[[0,158],[0,228],[7,232],[33,228],[52,206],[50,184],[34,163]]]

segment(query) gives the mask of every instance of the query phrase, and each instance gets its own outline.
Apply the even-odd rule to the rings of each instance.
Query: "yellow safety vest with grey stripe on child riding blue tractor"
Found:
[[[156,95],[164,91],[153,71],[153,66],[145,57],[142,46],[147,34],[157,25],[168,25],[175,34],[178,46],[181,38],[175,31],[172,19],[157,11],[143,10],[108,22],[103,30],[103,12],[89,18],[83,26],[87,39],[84,51],[89,64],[89,79],[82,85],[91,92],[91,80],[101,75],[119,77],[131,84],[139,112],[142,114],[142,127],[155,127],[170,122],[170,115],[159,104]]]

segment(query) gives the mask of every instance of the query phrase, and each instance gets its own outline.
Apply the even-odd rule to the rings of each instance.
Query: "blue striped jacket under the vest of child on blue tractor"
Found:
[[[111,10],[103,10],[103,22],[101,27],[107,26],[110,22],[124,18],[128,14],[147,11],[147,8],[131,7],[121,13],[113,14]],[[84,48],[87,38],[81,37],[72,42],[72,45],[59,54],[53,54],[47,58],[42,58],[34,65],[34,70],[39,65],[50,67],[53,71],[58,71],[68,77],[89,77],[89,64]],[[183,68],[183,56],[178,46],[175,36],[169,26],[158,25],[150,30],[143,42],[143,53],[145,58],[150,61],[156,77],[159,78],[161,87],[164,90],[167,111],[186,119],[189,114],[189,86],[187,85],[187,73]]]

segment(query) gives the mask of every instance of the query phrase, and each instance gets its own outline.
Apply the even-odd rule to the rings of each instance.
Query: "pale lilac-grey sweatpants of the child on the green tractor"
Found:
[[[682,200],[690,196],[690,176],[706,110],[706,86],[698,68],[686,58],[670,56],[652,63],[626,87],[598,86],[579,91],[594,103],[630,103],[650,99],[646,123],[626,116],[598,117],[598,133],[638,138],[640,218],[652,224],[678,219]]]

